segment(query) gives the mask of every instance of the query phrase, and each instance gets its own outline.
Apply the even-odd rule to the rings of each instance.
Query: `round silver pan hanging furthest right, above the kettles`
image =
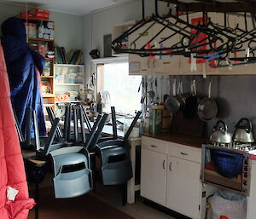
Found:
[[[208,86],[208,97],[202,99],[198,104],[197,108],[198,117],[204,122],[208,122],[212,118],[216,117],[218,112],[217,103],[211,98],[211,91],[212,80],[210,81]]]

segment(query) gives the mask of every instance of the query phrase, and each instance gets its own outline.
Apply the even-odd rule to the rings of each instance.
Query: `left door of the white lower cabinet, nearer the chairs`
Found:
[[[142,148],[141,195],[166,205],[167,155]]]

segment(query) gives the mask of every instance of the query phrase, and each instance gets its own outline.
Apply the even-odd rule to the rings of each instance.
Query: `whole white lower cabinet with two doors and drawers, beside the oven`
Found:
[[[201,149],[142,137],[141,195],[193,219],[205,216]],[[207,194],[208,195],[208,194]]]

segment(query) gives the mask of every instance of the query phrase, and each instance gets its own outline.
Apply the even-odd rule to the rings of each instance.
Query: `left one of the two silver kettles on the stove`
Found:
[[[210,141],[224,144],[230,144],[232,142],[232,135],[228,132],[228,127],[224,121],[218,120],[210,135]]]

